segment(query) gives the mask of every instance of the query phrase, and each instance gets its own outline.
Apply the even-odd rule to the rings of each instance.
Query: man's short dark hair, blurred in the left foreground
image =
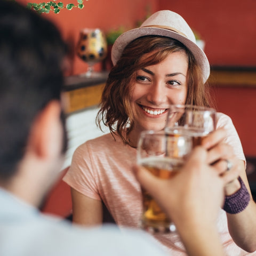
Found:
[[[0,177],[12,177],[30,126],[51,100],[60,100],[67,46],[58,29],[13,1],[0,3]],[[63,114],[61,116],[63,120]],[[66,132],[65,132],[66,133]],[[66,142],[65,142],[66,144]],[[65,145],[66,146],[66,145]]]

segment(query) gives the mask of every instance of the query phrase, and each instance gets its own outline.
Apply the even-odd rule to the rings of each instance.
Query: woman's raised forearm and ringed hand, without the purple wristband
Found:
[[[256,240],[254,238],[256,233],[256,205],[252,199],[249,183],[247,181],[244,161],[237,159],[234,154],[233,146],[230,146],[227,143],[221,143],[221,141],[225,140],[225,134],[222,131],[223,129],[215,131],[209,137],[206,137],[202,144],[208,149],[214,146],[214,149],[212,150],[214,155],[219,154],[220,159],[228,159],[231,161],[233,164],[231,170],[237,173],[237,176],[242,178],[250,193],[251,199],[245,210],[237,214],[227,213],[227,219],[229,233],[234,242],[243,250],[253,252],[256,250]],[[217,143],[218,141],[219,144]],[[209,153],[209,155],[211,158],[211,153]],[[226,165],[227,167],[227,163],[221,161],[221,164]],[[236,193],[236,191],[240,189],[241,185],[237,177],[230,180],[225,178],[225,175],[228,177],[228,172],[223,174],[223,178],[225,180],[225,196],[229,196]]]

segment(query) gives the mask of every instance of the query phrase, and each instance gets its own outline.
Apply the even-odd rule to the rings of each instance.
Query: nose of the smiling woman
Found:
[[[166,88],[160,82],[154,83],[148,92],[147,100],[154,105],[161,105],[166,101]]]

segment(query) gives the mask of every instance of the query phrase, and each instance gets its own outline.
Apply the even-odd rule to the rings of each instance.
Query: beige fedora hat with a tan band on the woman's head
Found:
[[[178,13],[169,10],[155,12],[139,28],[131,29],[119,36],[111,51],[113,64],[116,65],[127,44],[136,38],[149,35],[171,37],[185,45],[201,67],[206,82],[210,75],[210,65],[204,51],[196,44],[195,35],[187,22]]]

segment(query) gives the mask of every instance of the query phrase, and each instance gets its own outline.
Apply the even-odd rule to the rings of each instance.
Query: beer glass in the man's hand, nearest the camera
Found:
[[[191,137],[186,135],[169,136],[164,131],[144,131],[138,141],[137,163],[161,179],[171,179],[180,171],[191,149]],[[172,220],[143,188],[142,198],[141,228],[149,233],[175,232]]]

